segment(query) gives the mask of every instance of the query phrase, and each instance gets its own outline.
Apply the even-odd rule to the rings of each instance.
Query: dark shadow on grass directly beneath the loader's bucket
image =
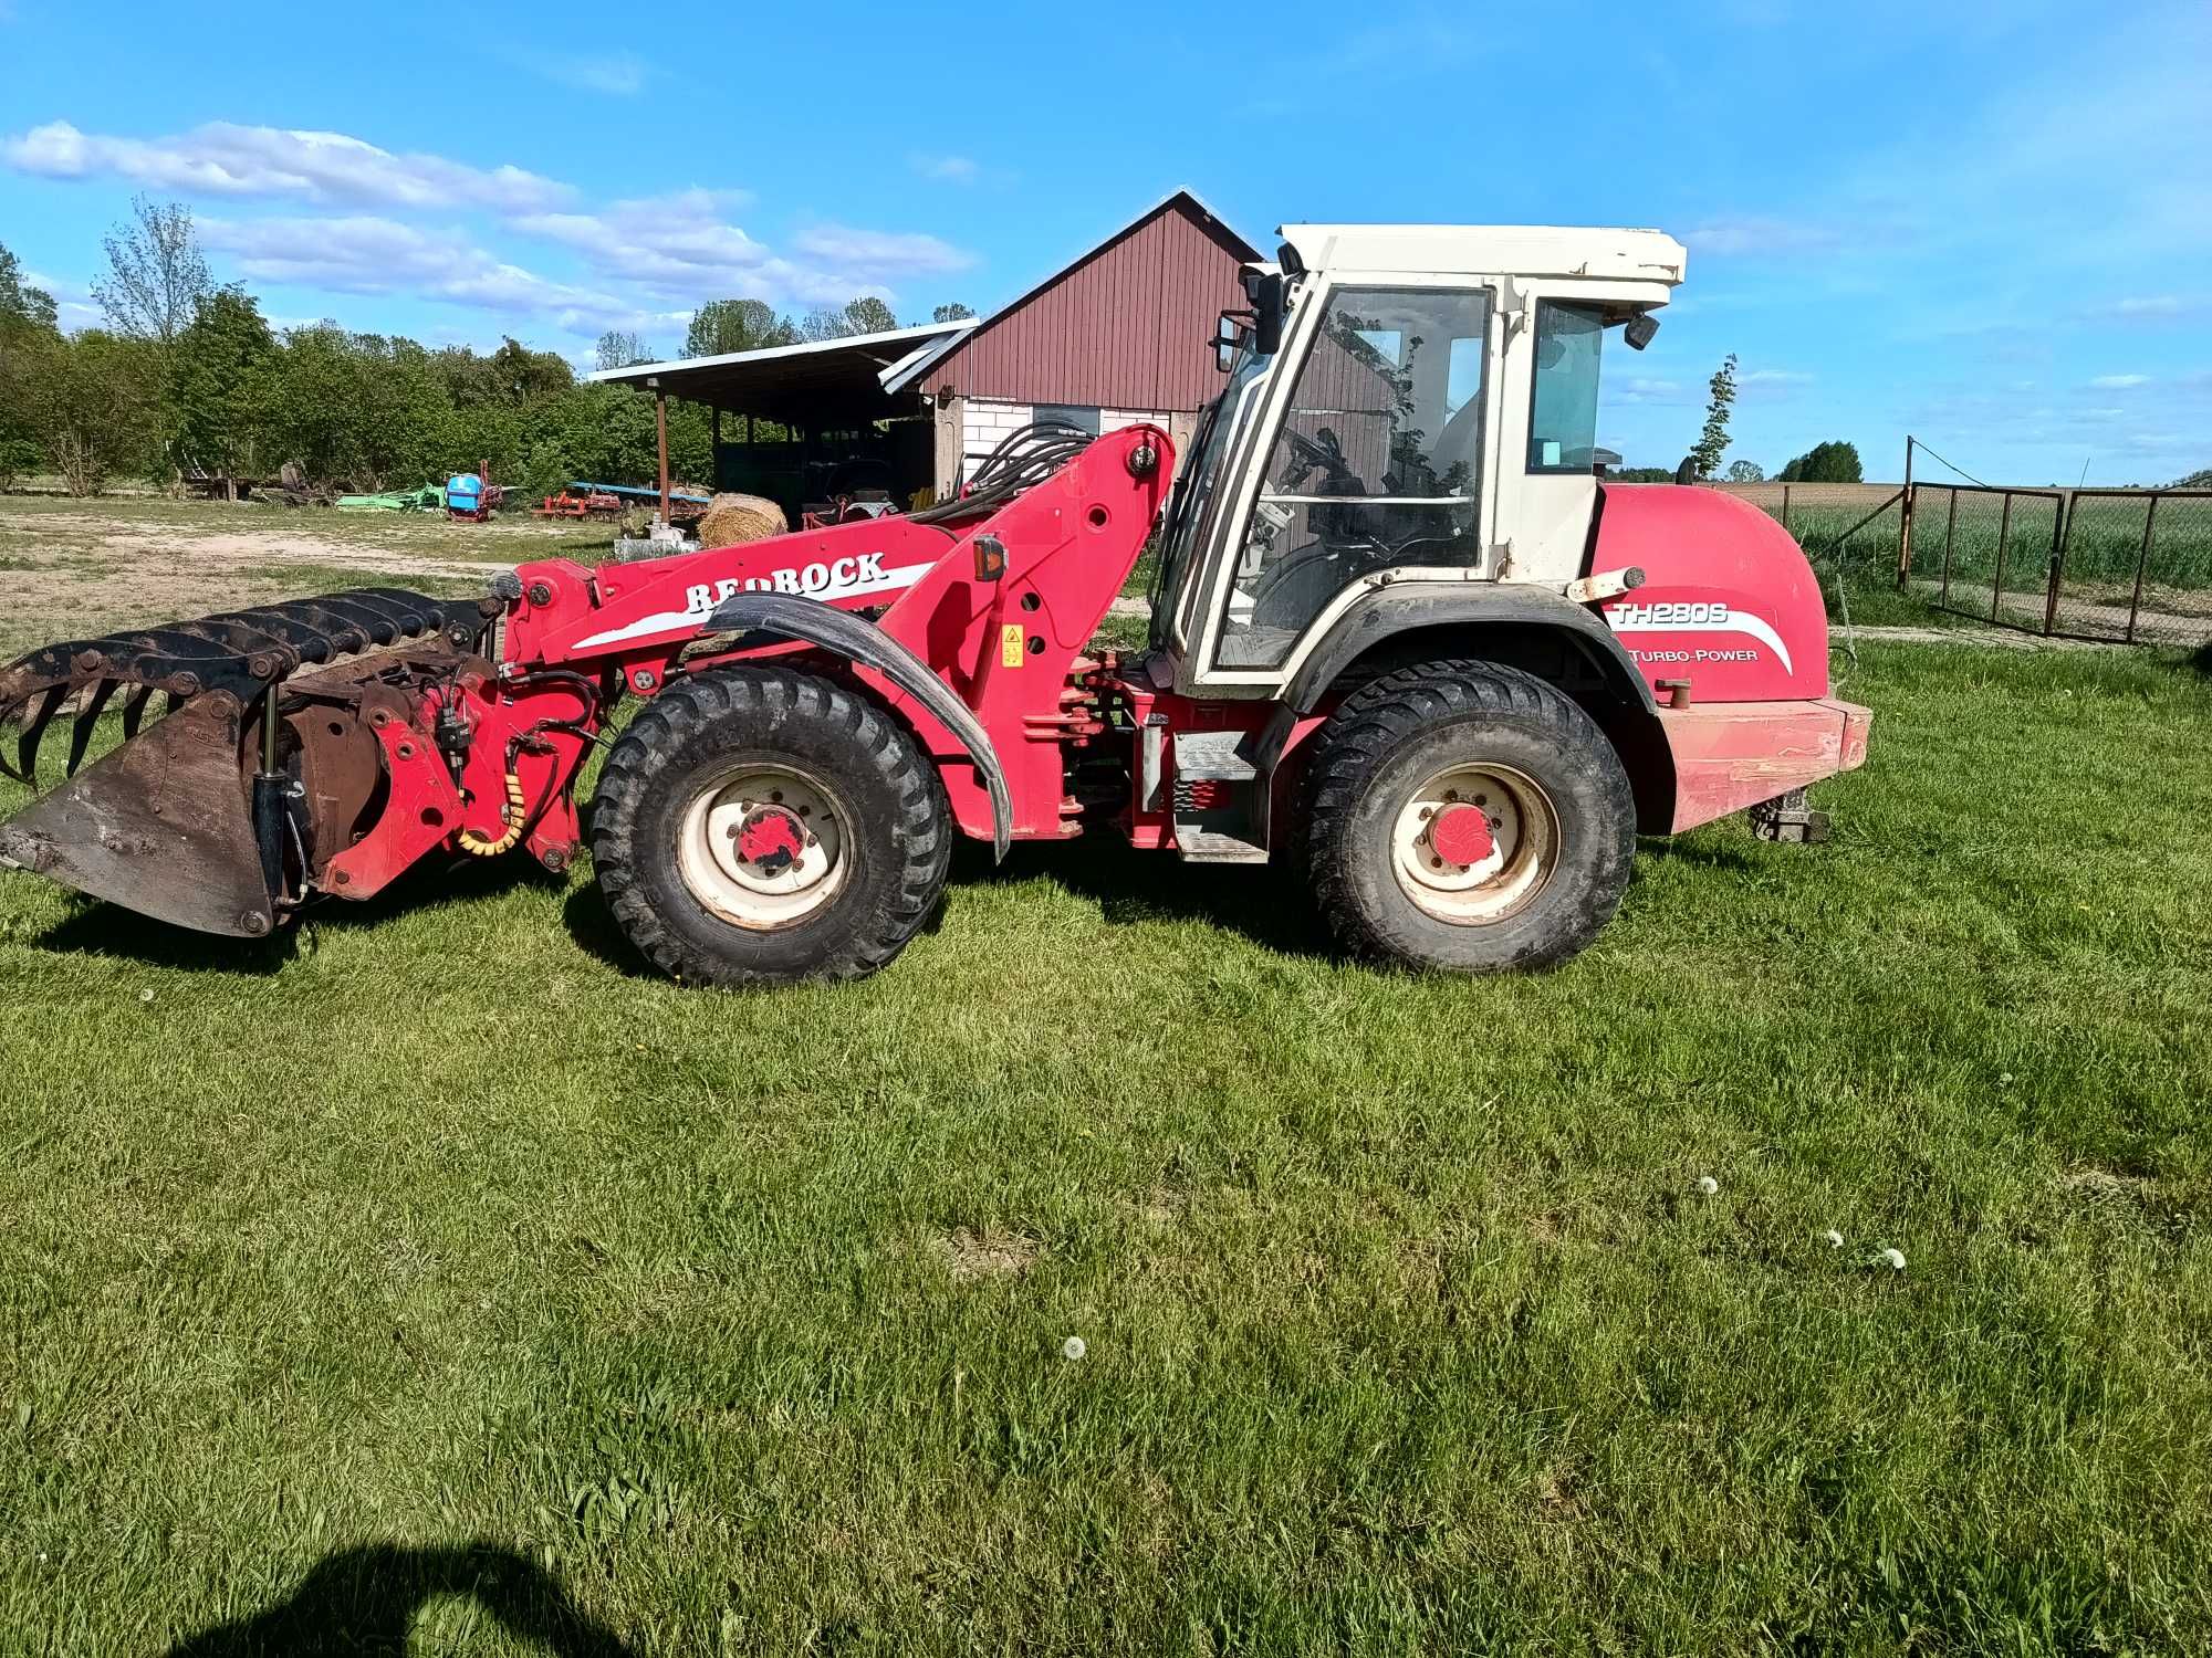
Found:
[[[312,953],[323,928],[376,926],[407,911],[478,902],[515,886],[560,880],[564,878],[546,875],[529,858],[469,858],[453,867],[422,864],[358,904],[343,900],[312,904],[299,924],[265,940],[195,933],[186,926],[148,920],[119,904],[86,898],[66,920],[33,937],[31,944],[60,955],[108,955],[159,968],[270,975],[281,973],[292,957]]]

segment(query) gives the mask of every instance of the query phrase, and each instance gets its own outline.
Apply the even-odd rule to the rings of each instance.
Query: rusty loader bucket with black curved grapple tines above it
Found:
[[[22,727],[0,772],[35,787],[46,727],[71,712],[69,780],[0,825],[0,867],[201,933],[268,933],[312,873],[279,752],[285,676],[407,639],[473,648],[495,610],[358,588],[29,652],[0,670],[0,723]],[[124,743],[80,774],[117,692]],[[139,730],[155,692],[168,714]]]

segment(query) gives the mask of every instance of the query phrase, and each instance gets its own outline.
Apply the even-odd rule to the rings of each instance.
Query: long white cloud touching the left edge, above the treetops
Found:
[[[394,155],[345,133],[230,122],[159,139],[106,137],[49,122],[0,139],[0,159],[42,179],[117,177],[201,197],[524,212],[573,195],[564,183],[513,166],[473,168],[438,155]]]

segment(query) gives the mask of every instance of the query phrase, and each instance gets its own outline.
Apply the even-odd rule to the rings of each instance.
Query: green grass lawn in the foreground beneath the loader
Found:
[[[1079,849],[774,997],[0,878],[0,1651],[2205,1651],[2212,676],[1843,692],[1834,844],[1537,979]]]

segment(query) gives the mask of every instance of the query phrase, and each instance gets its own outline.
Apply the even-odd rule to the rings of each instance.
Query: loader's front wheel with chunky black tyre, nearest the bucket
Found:
[[[591,856],[617,926],[672,979],[858,979],[929,920],[951,862],[936,767],[836,681],[679,679],[599,774]]]

